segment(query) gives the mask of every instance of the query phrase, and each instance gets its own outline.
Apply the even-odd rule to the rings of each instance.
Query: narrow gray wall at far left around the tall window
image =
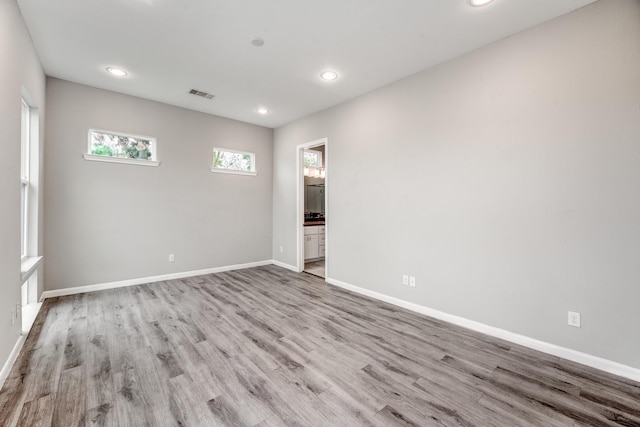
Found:
[[[20,335],[10,315],[20,300],[20,110],[23,88],[44,123],[45,77],[14,0],[0,1],[0,361]],[[42,133],[40,149],[43,148]],[[41,197],[41,193],[40,193]],[[42,203],[40,203],[42,208]],[[42,215],[39,215],[42,218]],[[42,231],[42,227],[38,227]],[[42,239],[38,239],[42,246]],[[42,251],[39,251],[42,253]],[[42,269],[38,278],[43,277]]]

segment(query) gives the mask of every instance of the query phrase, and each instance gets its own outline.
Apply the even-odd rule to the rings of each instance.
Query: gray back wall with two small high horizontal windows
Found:
[[[271,259],[271,129],[52,78],[47,108],[47,289]],[[89,128],[157,137],[161,165],[84,160]],[[214,146],[258,176],[210,172]]]

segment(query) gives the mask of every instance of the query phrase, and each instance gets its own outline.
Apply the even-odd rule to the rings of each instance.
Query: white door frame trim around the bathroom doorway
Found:
[[[329,162],[327,161],[329,158],[329,139],[321,138],[316,139],[315,141],[307,142],[305,144],[300,144],[296,146],[296,192],[297,196],[297,215],[296,215],[296,228],[298,230],[298,265],[296,266],[298,272],[302,272],[304,270],[304,150],[318,147],[320,145],[324,145],[324,158],[322,159],[322,167],[325,170],[325,178],[324,178],[324,215],[325,215],[325,264],[324,264],[324,276],[325,279],[327,277],[327,266],[329,265],[329,233],[328,226],[329,222],[327,218],[331,218],[329,216],[329,197],[327,193],[329,191]],[[329,219],[330,221],[330,219]]]

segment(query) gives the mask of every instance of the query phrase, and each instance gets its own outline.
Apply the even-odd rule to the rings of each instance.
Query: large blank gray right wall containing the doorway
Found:
[[[328,137],[330,278],[640,368],[638,76],[640,2],[601,0],[276,129],[274,258]]]

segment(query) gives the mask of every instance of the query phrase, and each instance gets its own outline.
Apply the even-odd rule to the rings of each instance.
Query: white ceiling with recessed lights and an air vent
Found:
[[[18,0],[47,75],[278,127],[595,0]],[[264,39],[255,47],[251,40]],[[129,75],[105,72],[119,66]],[[325,82],[320,72],[340,78]],[[190,89],[215,94],[213,100]],[[260,106],[270,110],[260,116]]]

